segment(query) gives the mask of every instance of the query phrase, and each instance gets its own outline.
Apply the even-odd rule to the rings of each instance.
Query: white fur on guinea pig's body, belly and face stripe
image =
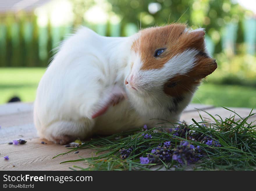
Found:
[[[191,69],[196,50],[173,57],[162,69],[141,71],[140,55],[131,51],[136,38],[138,34],[103,37],[81,28],[63,42],[38,85],[34,123],[40,137],[51,141],[63,139],[63,135],[83,139],[93,133],[109,134],[162,122],[152,118],[177,122],[192,94],[186,96],[176,112],[169,112],[166,109],[172,104],[171,98],[161,88],[164,79]],[[124,81],[131,74],[141,92],[125,86]],[[97,104],[114,87],[123,89],[128,99],[92,119]]]

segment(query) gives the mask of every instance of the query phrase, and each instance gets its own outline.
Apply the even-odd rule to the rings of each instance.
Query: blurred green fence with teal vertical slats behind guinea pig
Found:
[[[24,15],[0,15],[0,67],[45,67],[53,56],[55,47],[74,28],[70,26],[53,27],[48,24],[46,27],[39,27],[36,23],[36,16],[33,14]],[[83,23],[100,35],[106,36],[127,36],[135,33],[138,26],[132,23],[111,24],[108,22],[101,25]],[[254,26],[252,30],[246,30],[243,26]],[[225,46],[236,49],[238,30],[243,30],[245,41],[248,41],[247,52],[255,53],[255,31],[256,20],[245,21],[244,25],[227,25],[226,31],[221,38],[222,49]],[[241,28],[239,28],[241,27]],[[207,46],[213,54],[216,45],[209,36],[206,37]]]

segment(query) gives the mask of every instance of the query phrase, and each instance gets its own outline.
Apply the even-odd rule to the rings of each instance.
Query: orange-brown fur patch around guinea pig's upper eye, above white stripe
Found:
[[[139,53],[143,61],[142,70],[158,69],[186,49],[204,51],[203,31],[186,32],[185,24],[171,24],[163,27],[147,28],[141,31],[140,37],[133,43],[132,49]],[[158,57],[154,57],[156,49],[166,48]]]

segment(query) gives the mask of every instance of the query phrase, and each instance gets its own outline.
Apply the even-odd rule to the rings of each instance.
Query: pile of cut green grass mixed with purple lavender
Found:
[[[66,153],[91,148],[97,150],[97,157],[79,156],[77,160],[63,163],[85,161],[89,164],[88,168],[74,165],[70,167],[73,170],[182,170],[194,162],[189,166],[193,170],[255,170],[256,125],[247,123],[252,115],[255,114],[251,112],[243,119],[234,113],[230,118],[221,119],[209,114],[213,123],[204,122],[200,116],[201,122],[192,119],[194,124],[180,124],[170,132],[141,128],[92,138],[77,148],[68,148]],[[234,121],[235,116],[240,119]],[[159,155],[158,148],[161,149]]]

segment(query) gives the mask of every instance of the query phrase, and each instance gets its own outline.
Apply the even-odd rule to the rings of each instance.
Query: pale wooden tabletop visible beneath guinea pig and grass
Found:
[[[47,140],[38,138],[36,129],[33,125],[32,115],[33,103],[8,103],[0,105],[0,170],[70,170],[69,167],[77,165],[86,167],[85,162],[64,163],[65,160],[79,159],[92,156],[92,149],[81,149],[78,154],[73,152],[66,155],[53,156],[67,151],[63,145],[53,144]],[[223,119],[230,117],[234,113],[224,108],[215,108],[213,106],[191,104],[183,112],[181,120],[192,124],[192,118],[201,121],[198,112],[204,117],[205,121],[209,121],[209,115],[198,109],[207,111],[212,115],[220,115]],[[251,111],[249,108],[229,108],[238,113],[241,117],[247,117]],[[236,119],[239,119],[237,116]],[[256,115],[248,121],[255,121]],[[23,145],[7,144],[12,140],[24,139],[27,141]],[[45,141],[47,144],[41,144]],[[9,160],[3,160],[8,155]]]

